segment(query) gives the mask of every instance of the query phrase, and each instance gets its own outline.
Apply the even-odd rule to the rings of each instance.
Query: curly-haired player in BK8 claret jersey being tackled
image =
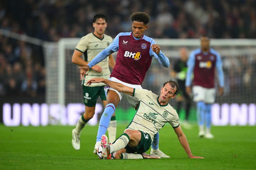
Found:
[[[132,32],[119,33],[113,42],[89,62],[87,66],[79,67],[81,69],[81,78],[87,75],[89,68],[104,60],[104,58],[115,51],[118,51],[116,65],[110,75],[110,80],[132,88],[142,88],[141,84],[153,56],[162,66],[169,67],[169,59],[164,56],[160,46],[155,44],[153,38],[143,35],[144,31],[148,28],[149,20],[150,17],[146,13],[133,13],[131,15]],[[101,144],[101,136],[106,133],[110,118],[120,100],[124,97],[134,108],[138,104],[138,100],[135,97],[121,93],[108,86],[105,86],[105,91],[107,92],[107,106],[101,116],[94,154],[96,154],[96,149]],[[157,133],[152,143],[151,152],[160,157],[169,157],[159,150],[158,141],[159,134]]]

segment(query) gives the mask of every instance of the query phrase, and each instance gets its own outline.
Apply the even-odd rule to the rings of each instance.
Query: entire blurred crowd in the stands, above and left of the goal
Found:
[[[0,29],[57,42],[93,32],[93,16],[104,13],[106,34],[115,37],[131,31],[137,11],[150,15],[152,38],[256,38],[255,0],[2,0]],[[41,47],[0,35],[0,95],[44,92]]]

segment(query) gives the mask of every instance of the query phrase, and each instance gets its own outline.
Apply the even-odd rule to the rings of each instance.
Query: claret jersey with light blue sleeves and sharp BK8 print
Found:
[[[110,77],[115,77],[125,83],[141,85],[154,56],[161,65],[169,67],[169,59],[162,51],[156,54],[151,45],[156,44],[153,38],[143,35],[141,38],[132,36],[132,32],[119,33],[113,42],[99,53],[88,66],[92,67],[109,54],[117,52],[116,65]]]

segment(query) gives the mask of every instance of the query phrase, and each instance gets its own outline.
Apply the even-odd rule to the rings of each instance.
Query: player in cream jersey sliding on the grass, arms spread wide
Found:
[[[144,152],[149,149],[154,134],[160,131],[166,123],[170,123],[174,128],[180,144],[190,158],[203,158],[192,155],[186,136],[179,126],[179,116],[168,103],[179,92],[179,85],[175,81],[169,80],[165,82],[160,96],[146,89],[131,88],[107,79],[94,78],[87,83],[90,84],[92,82],[104,82],[111,88],[136,97],[140,101],[131,123],[113,144],[109,144],[107,136],[102,135],[100,147],[102,147],[103,158],[107,158],[109,154],[114,152],[116,152],[115,159],[160,158]]]

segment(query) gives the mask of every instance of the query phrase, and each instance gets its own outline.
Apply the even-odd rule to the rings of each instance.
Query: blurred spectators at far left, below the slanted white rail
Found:
[[[30,45],[9,40],[0,36],[0,96],[43,96],[45,67],[33,60]]]

